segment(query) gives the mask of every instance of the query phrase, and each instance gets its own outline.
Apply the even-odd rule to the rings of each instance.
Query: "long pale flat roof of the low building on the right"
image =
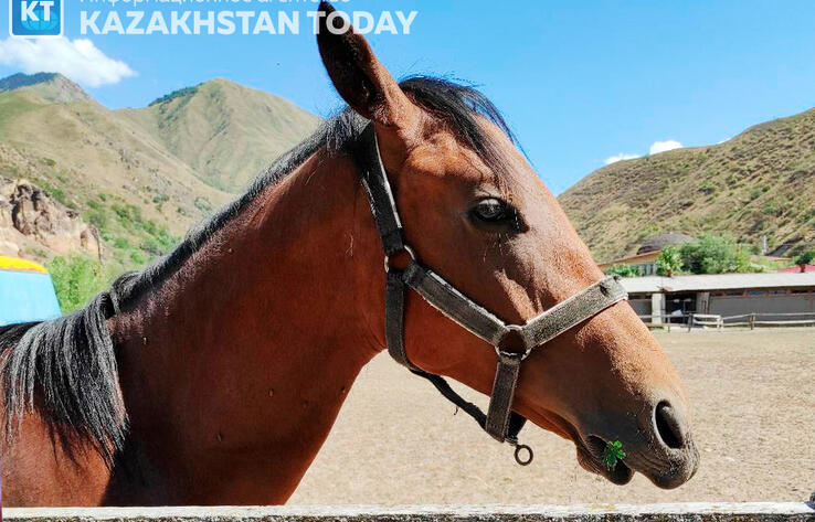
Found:
[[[703,276],[626,277],[629,294],[734,290],[741,288],[815,287],[815,271],[806,274],[711,274]]]

